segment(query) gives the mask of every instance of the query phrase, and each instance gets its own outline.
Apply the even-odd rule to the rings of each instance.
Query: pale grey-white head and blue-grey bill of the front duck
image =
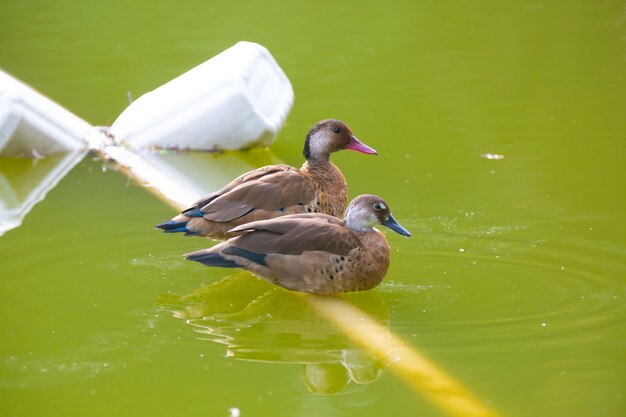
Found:
[[[393,218],[385,200],[372,194],[363,194],[352,200],[346,209],[344,221],[349,229],[360,232],[382,224],[402,236],[411,236],[411,233]]]

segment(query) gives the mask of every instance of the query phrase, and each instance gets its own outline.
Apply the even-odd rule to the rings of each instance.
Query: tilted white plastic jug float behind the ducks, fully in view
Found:
[[[239,42],[134,101],[111,126],[132,148],[233,150],[270,145],[293,88],[269,51]]]

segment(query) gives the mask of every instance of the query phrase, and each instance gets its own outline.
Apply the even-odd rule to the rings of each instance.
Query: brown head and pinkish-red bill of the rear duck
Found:
[[[377,155],[376,150],[359,141],[341,120],[328,119],[318,122],[309,130],[304,142],[304,157],[328,159],[331,153],[351,149],[353,151]]]

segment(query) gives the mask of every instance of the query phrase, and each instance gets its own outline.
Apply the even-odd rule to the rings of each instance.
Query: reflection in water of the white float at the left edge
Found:
[[[42,159],[0,158],[0,236],[24,217],[78,164],[85,152],[58,153]]]

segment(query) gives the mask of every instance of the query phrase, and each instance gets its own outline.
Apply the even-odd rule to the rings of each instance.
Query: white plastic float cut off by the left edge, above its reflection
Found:
[[[80,152],[94,128],[0,70],[0,156]]]

